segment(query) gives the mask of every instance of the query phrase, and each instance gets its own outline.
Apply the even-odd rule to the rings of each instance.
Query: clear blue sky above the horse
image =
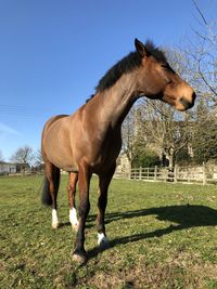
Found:
[[[216,0],[197,0],[208,19]],[[176,47],[193,37],[191,0],[0,0],[0,150],[40,147],[43,123],[72,114],[133,39]]]

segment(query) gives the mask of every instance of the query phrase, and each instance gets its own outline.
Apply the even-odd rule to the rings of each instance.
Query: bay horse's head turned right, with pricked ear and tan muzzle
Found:
[[[152,43],[144,45],[138,39],[135,45],[141,57],[138,70],[139,94],[159,98],[178,110],[191,108],[196,94],[169,66],[163,52]]]

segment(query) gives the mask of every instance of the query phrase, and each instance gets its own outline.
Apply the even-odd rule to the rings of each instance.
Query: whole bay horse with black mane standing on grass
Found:
[[[69,221],[77,236],[73,259],[87,261],[85,224],[89,213],[89,186],[93,173],[99,176],[98,244],[108,245],[104,215],[107,188],[122,148],[122,123],[141,96],[161,100],[177,110],[194,105],[195,92],[169,66],[165,54],[153,42],[135,39],[136,51],[114,65],[99,81],[94,95],[73,115],[54,116],[42,131],[41,154],[46,181],[42,202],[52,206],[52,227],[58,228],[56,196],[60,169],[68,172]],[[79,184],[78,219],[75,207]]]

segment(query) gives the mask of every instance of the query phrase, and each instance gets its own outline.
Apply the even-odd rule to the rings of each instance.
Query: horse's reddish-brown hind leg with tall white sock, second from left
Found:
[[[68,193],[69,221],[75,231],[78,229],[78,219],[75,208],[75,193],[76,193],[77,181],[78,181],[78,174],[71,172],[68,178],[67,193]]]

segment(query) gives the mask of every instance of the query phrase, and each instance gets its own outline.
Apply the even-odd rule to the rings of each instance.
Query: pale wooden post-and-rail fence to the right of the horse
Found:
[[[179,167],[175,168],[132,168],[129,171],[118,170],[115,178],[152,181],[152,182],[174,182],[174,183],[217,183],[217,166],[196,166],[196,167]]]

